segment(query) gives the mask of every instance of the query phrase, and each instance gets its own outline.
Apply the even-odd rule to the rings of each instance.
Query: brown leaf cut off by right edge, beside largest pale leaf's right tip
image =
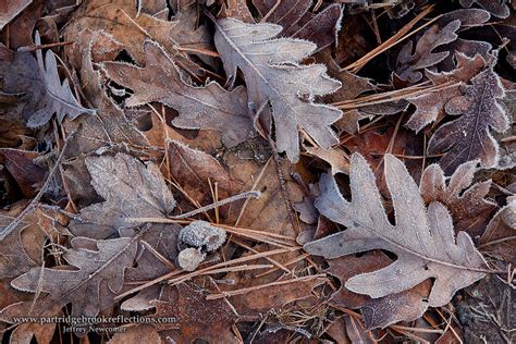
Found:
[[[500,209],[480,237],[480,249],[516,265],[516,200]]]

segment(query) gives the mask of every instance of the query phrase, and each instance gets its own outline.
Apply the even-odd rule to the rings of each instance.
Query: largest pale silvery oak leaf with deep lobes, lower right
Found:
[[[351,278],[345,286],[372,298],[407,291],[422,281],[435,282],[429,305],[443,306],[456,291],[481,279],[487,263],[468,234],[455,238],[452,218],[443,205],[425,207],[419,189],[402,161],[384,157],[385,177],[395,212],[393,225],[382,205],[374,175],[360,155],[353,155],[352,201],[344,199],[335,180],[321,177],[321,197],[316,207],[347,229],[305,245],[314,255],[336,258],[371,249],[396,254],[397,260],[373,272]]]

